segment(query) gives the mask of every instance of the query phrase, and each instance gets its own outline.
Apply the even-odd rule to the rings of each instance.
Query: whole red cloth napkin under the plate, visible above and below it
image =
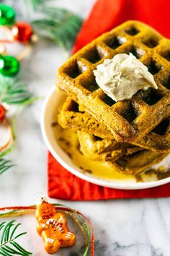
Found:
[[[170,38],[170,1],[98,0],[76,38],[73,51],[78,51],[98,35],[126,20],[140,20]],[[48,155],[48,195],[64,200],[104,200],[115,198],[169,197],[170,184],[139,190],[109,189],[74,176]]]

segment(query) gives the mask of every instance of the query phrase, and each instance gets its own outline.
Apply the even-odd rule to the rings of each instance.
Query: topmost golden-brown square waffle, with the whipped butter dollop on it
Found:
[[[115,103],[98,87],[93,70],[104,59],[130,52],[148,67],[158,90],[140,90],[130,100]],[[170,114],[169,53],[170,40],[148,25],[128,21],[95,39],[68,59],[58,70],[56,84],[84,105],[97,120],[103,121],[117,141],[140,141]],[[145,140],[145,143],[148,142]]]

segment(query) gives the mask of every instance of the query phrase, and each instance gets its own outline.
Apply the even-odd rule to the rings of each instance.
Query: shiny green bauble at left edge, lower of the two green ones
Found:
[[[6,77],[14,77],[19,72],[19,61],[13,56],[0,55],[0,73]]]

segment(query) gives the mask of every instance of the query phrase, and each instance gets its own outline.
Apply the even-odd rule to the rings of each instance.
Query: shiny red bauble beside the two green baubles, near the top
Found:
[[[17,22],[12,27],[12,35],[15,40],[27,43],[32,36],[32,27],[25,22]]]

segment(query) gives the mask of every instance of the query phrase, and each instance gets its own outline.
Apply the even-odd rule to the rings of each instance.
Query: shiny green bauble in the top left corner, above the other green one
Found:
[[[14,9],[6,4],[0,4],[0,25],[13,25],[14,22]]]

